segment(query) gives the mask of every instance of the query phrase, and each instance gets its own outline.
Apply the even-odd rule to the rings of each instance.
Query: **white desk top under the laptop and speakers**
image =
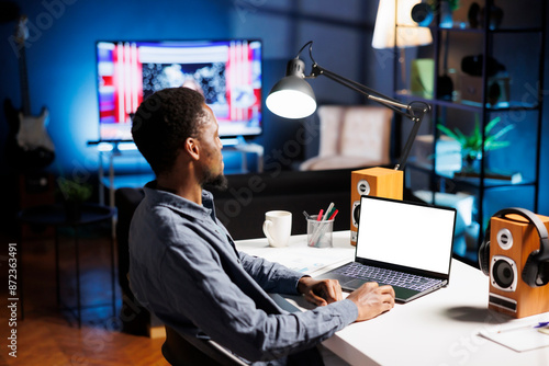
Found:
[[[354,258],[349,237],[349,231],[334,233],[333,252],[337,254],[334,260]],[[279,262],[290,265],[300,264],[292,254],[307,251],[310,258],[315,258],[318,255],[315,251],[324,251],[307,248],[306,236],[292,237],[289,248],[282,249],[268,248],[267,239],[242,240],[236,244],[244,252],[268,260],[278,260],[282,253]],[[327,268],[312,270],[314,276]],[[397,304],[376,319],[354,323],[324,345],[351,365],[549,365],[549,347],[515,352],[478,335],[479,331],[549,320],[549,313],[512,319],[489,310],[488,293],[488,276],[453,260],[447,288],[405,305]]]

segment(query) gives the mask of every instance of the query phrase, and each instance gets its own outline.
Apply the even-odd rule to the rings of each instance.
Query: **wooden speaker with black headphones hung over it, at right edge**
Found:
[[[549,229],[549,217],[537,216]],[[531,287],[523,279],[526,261],[540,244],[536,226],[525,217],[491,218],[489,309],[514,318],[549,311],[549,285]]]

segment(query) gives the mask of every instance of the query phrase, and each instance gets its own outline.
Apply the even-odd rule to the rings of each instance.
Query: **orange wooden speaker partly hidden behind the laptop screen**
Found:
[[[402,199],[404,174],[402,170],[388,168],[355,170],[350,174],[350,243],[356,245],[360,196]]]

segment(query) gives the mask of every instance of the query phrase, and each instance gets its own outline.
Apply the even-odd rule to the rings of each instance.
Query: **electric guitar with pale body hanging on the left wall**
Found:
[[[55,159],[55,147],[46,126],[49,112],[44,106],[37,116],[31,115],[29,78],[26,71],[25,41],[29,37],[27,18],[19,20],[15,41],[19,44],[19,77],[21,83],[22,108],[18,111],[11,101],[4,101],[4,111],[10,133],[7,141],[8,161],[16,170],[42,169]]]

